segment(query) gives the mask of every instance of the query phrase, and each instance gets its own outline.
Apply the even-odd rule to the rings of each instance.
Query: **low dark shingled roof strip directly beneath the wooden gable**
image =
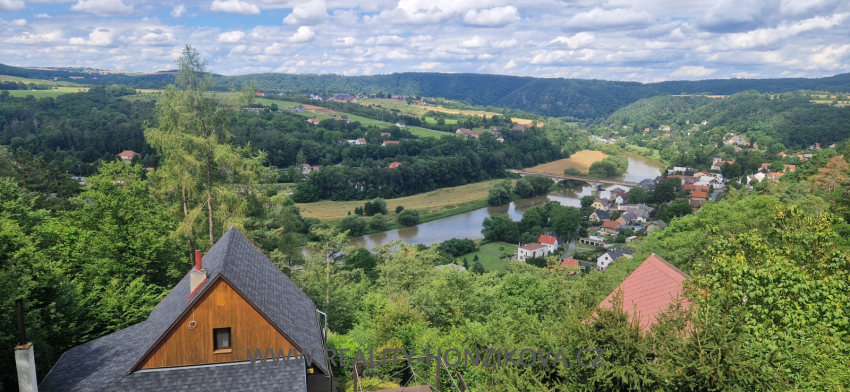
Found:
[[[124,377],[106,392],[160,391],[305,391],[304,362],[296,365],[271,362],[231,362],[205,366],[140,370]]]

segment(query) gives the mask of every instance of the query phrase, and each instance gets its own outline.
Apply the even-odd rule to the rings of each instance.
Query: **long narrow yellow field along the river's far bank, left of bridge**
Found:
[[[486,200],[490,192],[490,188],[501,181],[503,180],[477,182],[453,188],[438,189],[436,191],[422,193],[415,196],[389,199],[387,200],[387,211],[390,212],[388,214],[388,218],[395,219],[396,206],[404,206],[405,209],[417,210],[421,217],[423,214],[438,214],[446,210],[453,209],[461,204]],[[366,203],[366,200],[323,200],[315,203],[299,203],[296,205],[301,208],[301,215],[304,217],[319,218],[323,222],[333,222],[348,216],[349,211],[354,213],[354,209],[356,207],[362,207],[364,203]]]

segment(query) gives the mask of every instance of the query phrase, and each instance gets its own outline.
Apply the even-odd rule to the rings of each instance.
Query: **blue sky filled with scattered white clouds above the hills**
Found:
[[[654,82],[850,72],[850,0],[0,0],[0,63]]]

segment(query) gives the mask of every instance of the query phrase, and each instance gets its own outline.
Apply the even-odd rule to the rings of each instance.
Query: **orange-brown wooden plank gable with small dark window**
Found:
[[[247,361],[248,350],[265,355],[297,348],[223,279],[216,279],[189,311],[142,360],[137,369]],[[188,298],[187,298],[188,300]],[[194,321],[194,328],[190,322]],[[213,352],[213,329],[230,328],[230,350]],[[300,351],[297,351],[300,355]]]

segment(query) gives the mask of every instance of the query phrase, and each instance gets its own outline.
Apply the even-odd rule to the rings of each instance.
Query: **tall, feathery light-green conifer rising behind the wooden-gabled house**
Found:
[[[151,178],[160,196],[175,202],[181,216],[178,230],[190,246],[203,237],[212,246],[228,227],[242,227],[245,196],[269,172],[263,167],[265,153],[230,144],[232,115],[250,104],[253,88],[216,96],[206,64],[186,45],[177,60],[177,86],[169,85],[156,103],[159,127],[145,130],[145,139],[160,157],[160,169]]]

